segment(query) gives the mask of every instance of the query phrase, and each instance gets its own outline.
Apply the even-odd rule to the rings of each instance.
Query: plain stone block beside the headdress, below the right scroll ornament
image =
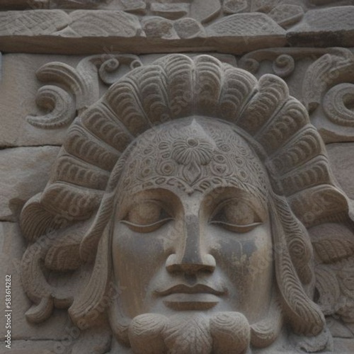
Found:
[[[348,197],[354,200],[354,143],[328,144],[326,149],[334,176]]]

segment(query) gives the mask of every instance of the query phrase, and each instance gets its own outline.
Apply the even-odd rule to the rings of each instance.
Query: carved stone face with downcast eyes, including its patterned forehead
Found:
[[[113,269],[120,307],[139,314],[268,311],[268,179],[229,125],[206,118],[139,137],[120,178]]]

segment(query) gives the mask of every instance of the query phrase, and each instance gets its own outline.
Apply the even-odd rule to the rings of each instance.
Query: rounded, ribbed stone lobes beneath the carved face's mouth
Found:
[[[210,299],[173,301],[166,303],[168,315],[146,313],[130,319],[115,302],[110,307],[110,326],[117,345],[135,354],[223,354],[230,348],[233,354],[249,354],[252,348],[266,348],[280,336],[282,314],[277,301],[256,324],[240,312],[217,311],[212,304]]]

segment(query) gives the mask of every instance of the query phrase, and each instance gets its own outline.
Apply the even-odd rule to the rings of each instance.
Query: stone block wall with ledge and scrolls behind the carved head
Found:
[[[21,258],[27,241],[18,220],[50,179],[74,118],[120,77],[166,53],[205,53],[258,79],[284,79],[324,139],[353,216],[353,18],[353,1],[1,1],[0,334],[4,341],[5,275],[11,275],[12,351],[4,342],[0,353],[105,353],[110,347],[109,334],[79,330],[67,309],[55,309],[40,324],[26,320],[31,301],[21,285]],[[348,259],[354,267],[353,256]],[[55,279],[55,272],[47,276]],[[333,353],[354,353],[354,322],[331,321]]]

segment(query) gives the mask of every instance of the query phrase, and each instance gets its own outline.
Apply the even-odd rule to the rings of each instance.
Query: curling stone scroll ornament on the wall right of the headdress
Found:
[[[326,143],[353,141],[353,50],[258,50],[241,57],[239,66],[253,74],[273,72],[290,82]]]

